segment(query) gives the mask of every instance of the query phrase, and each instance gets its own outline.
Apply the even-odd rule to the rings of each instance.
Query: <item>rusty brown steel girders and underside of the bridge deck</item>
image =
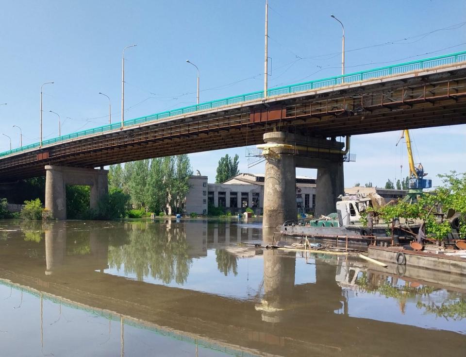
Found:
[[[466,123],[466,69],[374,80],[162,119],[7,156],[0,181],[46,165],[94,168],[263,143],[271,131],[334,137]]]

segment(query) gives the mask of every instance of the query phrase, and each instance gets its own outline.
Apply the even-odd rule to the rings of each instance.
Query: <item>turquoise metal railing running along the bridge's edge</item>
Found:
[[[367,81],[367,80],[374,79],[374,78],[395,76],[395,75],[400,75],[400,74],[418,71],[422,69],[446,66],[446,65],[461,63],[465,61],[466,61],[466,51],[455,52],[455,53],[445,54],[441,56],[425,58],[425,59],[421,59],[417,61],[405,62],[405,63],[392,65],[392,66],[368,69],[368,70],[363,70],[359,72],[348,73],[345,75],[339,75],[339,76],[319,79],[315,81],[309,81],[309,82],[303,82],[303,83],[298,83],[294,85],[285,85],[282,87],[271,88],[267,90],[267,97],[268,98],[278,97],[278,96],[282,96],[286,94],[306,92],[310,90],[320,89],[324,87],[331,87],[335,85],[363,82],[363,81]],[[204,102],[200,104],[189,105],[183,108],[168,110],[165,112],[156,113],[156,114],[148,115],[145,117],[125,120],[124,127],[130,127],[133,125],[143,124],[149,121],[176,117],[179,115],[190,114],[190,113],[203,111],[203,110],[215,109],[215,108],[219,108],[219,107],[226,106],[226,105],[233,105],[233,104],[238,104],[238,103],[256,101],[256,100],[260,100],[263,98],[264,98],[264,92],[256,91],[252,93],[242,94],[239,96],[223,98],[223,99],[219,99],[219,100],[215,100],[211,102]],[[43,140],[42,146],[44,147],[47,145],[56,144],[58,142],[67,141],[67,140],[78,138],[81,136],[105,133],[105,132],[119,129],[120,127],[121,127],[121,123],[115,123],[115,124],[107,124],[107,125],[99,126],[93,129],[82,130],[76,133],[62,135],[62,136],[54,137],[48,140]],[[20,152],[27,151],[30,149],[39,148],[39,146],[40,146],[39,143],[33,143],[27,146],[23,146],[17,149],[13,149],[13,150],[0,153],[0,157],[10,155],[13,153],[20,153]]]

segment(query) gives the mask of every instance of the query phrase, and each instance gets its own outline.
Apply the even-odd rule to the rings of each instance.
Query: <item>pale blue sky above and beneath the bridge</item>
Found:
[[[44,87],[44,137],[58,135],[57,117],[49,110],[61,115],[62,134],[108,122],[108,102],[98,92],[111,98],[112,119],[118,120],[121,51],[133,43],[137,47],[125,56],[125,119],[195,103],[196,71],[187,58],[200,68],[201,102],[261,89],[264,3],[2,1],[0,103],[8,104],[0,105],[0,133],[17,147],[16,124],[24,144],[38,141],[40,85],[49,81],[55,84]],[[330,14],[345,24],[347,72],[466,50],[462,0],[269,0],[269,5],[270,87],[340,73],[341,27]],[[466,171],[465,125],[412,135],[416,160],[434,184],[437,173]],[[399,178],[400,163],[407,175],[406,153],[395,147],[398,137],[398,132],[354,136],[357,162],[346,164],[346,186],[368,181],[383,186],[387,178]],[[1,136],[0,151],[8,148]],[[190,156],[193,168],[211,181],[225,153],[240,155],[241,171],[263,172],[263,165],[248,169],[245,152]],[[316,170],[297,173],[316,176]]]

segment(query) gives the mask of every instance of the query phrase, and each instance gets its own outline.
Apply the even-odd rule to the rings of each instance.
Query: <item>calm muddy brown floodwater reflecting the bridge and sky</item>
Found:
[[[0,221],[0,356],[466,355],[466,277],[265,240],[260,222]]]

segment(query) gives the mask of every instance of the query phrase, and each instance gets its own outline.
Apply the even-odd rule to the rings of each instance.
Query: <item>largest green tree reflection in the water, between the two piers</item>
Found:
[[[126,230],[128,244],[109,247],[110,268],[123,266],[126,274],[133,273],[138,280],[151,276],[165,284],[186,282],[192,258],[187,253],[184,224],[130,222]]]

